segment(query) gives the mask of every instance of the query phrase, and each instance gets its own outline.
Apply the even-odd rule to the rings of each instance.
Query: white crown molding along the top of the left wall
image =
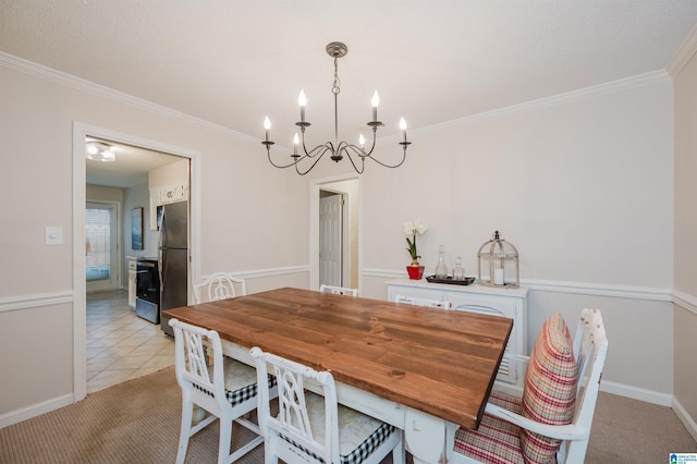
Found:
[[[52,68],[44,66],[41,64],[15,57],[10,53],[5,53],[3,51],[0,51],[0,66],[8,68],[10,70],[14,70],[44,81],[49,81],[77,91],[83,91],[85,94],[90,94],[97,97],[107,98],[112,101],[136,107],[164,118],[194,124],[208,131],[217,132],[231,138],[236,138],[239,141],[255,143],[260,141],[259,138],[252,137],[237,131],[233,131],[232,129],[215,124],[199,118],[194,118],[181,111],[176,111],[171,108],[167,108],[161,105],[134,97],[123,91],[114,90],[110,87],[95,84],[94,82],[76,77],[72,74],[68,74]]]

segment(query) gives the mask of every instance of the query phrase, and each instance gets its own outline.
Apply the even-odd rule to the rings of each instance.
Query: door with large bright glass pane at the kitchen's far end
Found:
[[[85,279],[87,292],[117,290],[119,266],[117,204],[88,203],[85,209]]]

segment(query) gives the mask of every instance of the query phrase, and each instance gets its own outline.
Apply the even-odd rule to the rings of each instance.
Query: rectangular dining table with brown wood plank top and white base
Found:
[[[504,317],[283,288],[166,310],[249,349],[329,370],[339,402],[404,430],[415,462],[448,462],[477,428],[513,327]]]

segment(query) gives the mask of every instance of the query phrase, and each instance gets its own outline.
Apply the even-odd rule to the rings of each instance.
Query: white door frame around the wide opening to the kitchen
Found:
[[[95,136],[189,159],[189,279],[200,276],[199,151],[73,121],[73,402],[87,395],[87,303],[85,282],[85,137]],[[189,301],[191,303],[191,301]]]

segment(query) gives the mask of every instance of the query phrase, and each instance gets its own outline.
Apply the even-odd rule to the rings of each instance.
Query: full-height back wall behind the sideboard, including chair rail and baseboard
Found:
[[[362,294],[386,297],[386,280],[406,277],[405,220],[429,225],[418,248],[426,274],[443,244],[449,267],[462,256],[476,276],[476,254],[499,230],[531,289],[530,344],[553,310],[573,327],[583,307],[600,308],[603,387],[670,404],[672,343],[647,341],[673,332],[672,101],[661,74],[414,133],[402,168],[363,178]]]

